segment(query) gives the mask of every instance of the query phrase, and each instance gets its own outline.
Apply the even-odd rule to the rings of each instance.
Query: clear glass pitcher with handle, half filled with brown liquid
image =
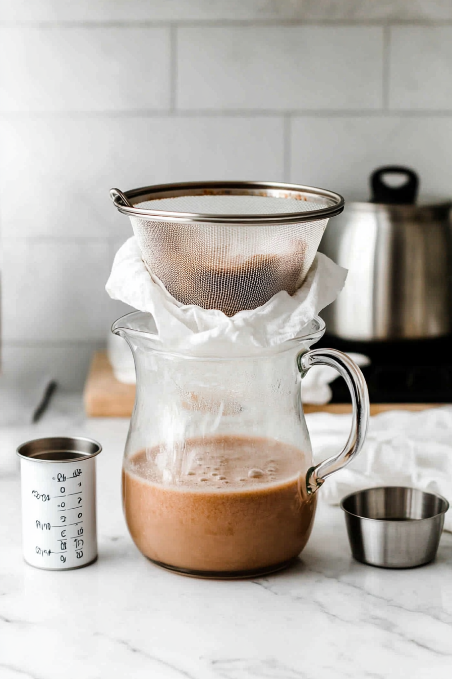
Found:
[[[150,314],[113,325],[136,367],[123,508],[152,562],[228,578],[279,570],[300,554],[316,491],[358,454],[369,419],[361,370],[339,351],[310,350],[324,331],[314,318],[276,347],[199,356],[165,348]],[[318,364],[346,380],[353,412],[344,449],[313,466],[300,386]]]

